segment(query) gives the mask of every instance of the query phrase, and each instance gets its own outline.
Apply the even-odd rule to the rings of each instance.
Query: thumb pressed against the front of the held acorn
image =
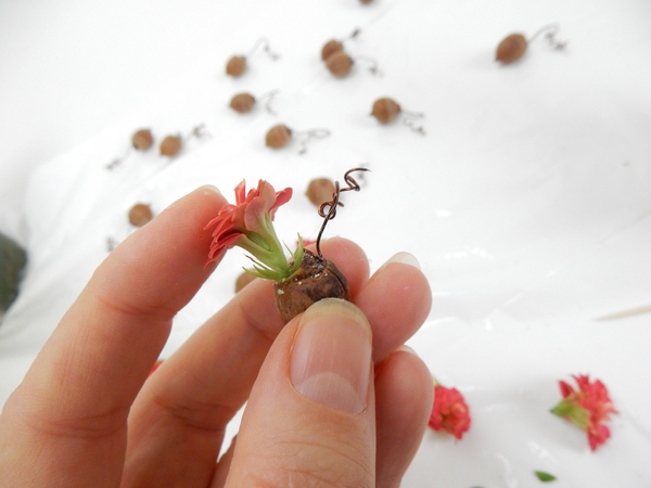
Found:
[[[227,487],[375,485],[371,328],[329,298],[271,347],[242,419]]]

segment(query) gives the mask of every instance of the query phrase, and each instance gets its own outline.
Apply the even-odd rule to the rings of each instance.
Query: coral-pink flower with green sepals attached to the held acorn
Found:
[[[292,197],[292,189],[276,192],[265,180],[246,193],[245,181],[235,187],[235,204],[226,204],[204,229],[215,228],[208,260],[219,261],[233,246],[251,253],[253,270],[246,270],[256,277],[280,281],[298,269],[303,260],[303,241],[298,237],[298,247],[293,253],[290,265],[276,231],[273,216],[281,205]]]

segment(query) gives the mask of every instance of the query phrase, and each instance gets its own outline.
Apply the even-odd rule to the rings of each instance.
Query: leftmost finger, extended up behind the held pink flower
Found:
[[[203,266],[210,241],[203,228],[225,203],[213,189],[195,190],[97,269],[5,403],[1,479],[119,484],[129,408],[174,316],[215,268]]]

